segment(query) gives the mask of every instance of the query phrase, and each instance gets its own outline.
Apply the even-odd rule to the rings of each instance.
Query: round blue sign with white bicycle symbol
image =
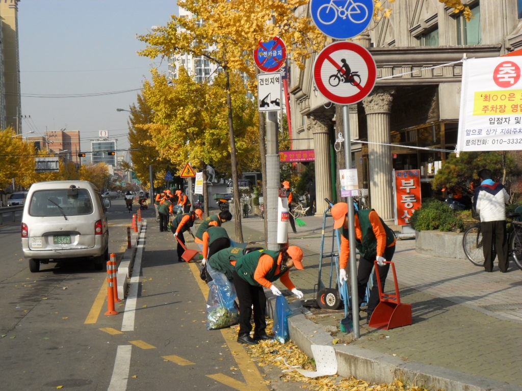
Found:
[[[311,0],[310,14],[319,30],[335,39],[362,33],[373,16],[373,0]]]

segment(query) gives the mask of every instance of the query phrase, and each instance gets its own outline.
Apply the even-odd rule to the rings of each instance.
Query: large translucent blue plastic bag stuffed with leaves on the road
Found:
[[[212,277],[208,283],[207,330],[230,327],[239,322],[239,310],[235,299],[238,295],[234,285],[221,272],[207,265]]]

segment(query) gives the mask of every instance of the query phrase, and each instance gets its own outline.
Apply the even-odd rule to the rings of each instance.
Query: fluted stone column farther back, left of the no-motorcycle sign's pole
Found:
[[[330,127],[333,113],[313,113],[310,126],[314,136],[315,150],[315,202],[316,215],[323,215],[327,206],[325,198],[331,199]]]

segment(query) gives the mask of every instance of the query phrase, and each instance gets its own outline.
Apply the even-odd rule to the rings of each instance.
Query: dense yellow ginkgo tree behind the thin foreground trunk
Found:
[[[204,172],[207,164],[219,172],[230,170],[228,117],[223,112],[224,76],[218,74],[212,82],[197,83],[182,67],[179,78],[167,80],[157,70],[152,81],[144,83],[143,94],[153,109],[153,124],[146,129],[151,135],[149,144],[158,152],[160,160],[168,160],[177,167],[180,175],[186,163]],[[230,75],[230,92],[233,106],[233,124],[240,171],[259,164],[256,148],[256,108],[247,97],[247,90],[237,73]],[[131,144],[132,146],[132,144]],[[134,158],[133,158],[134,161]],[[204,182],[204,193],[206,193]],[[208,211],[208,200],[205,199]]]

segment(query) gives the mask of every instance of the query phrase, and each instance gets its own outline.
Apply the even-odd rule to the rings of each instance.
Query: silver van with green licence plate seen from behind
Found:
[[[37,182],[29,188],[22,215],[22,252],[29,270],[41,263],[69,259],[94,262],[103,270],[109,259],[106,209],[96,186],[85,180]]]

